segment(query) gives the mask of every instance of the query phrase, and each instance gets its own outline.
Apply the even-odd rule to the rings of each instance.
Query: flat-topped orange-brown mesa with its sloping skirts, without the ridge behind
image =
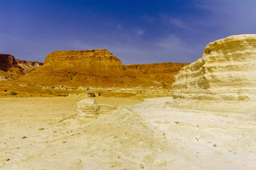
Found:
[[[107,50],[55,51],[42,67],[22,79],[42,85],[161,86],[138,72],[125,72],[120,60]]]

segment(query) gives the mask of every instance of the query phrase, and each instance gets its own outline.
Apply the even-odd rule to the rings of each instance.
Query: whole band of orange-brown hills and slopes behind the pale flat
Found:
[[[56,51],[44,63],[3,56],[1,80],[14,81],[0,81],[2,97],[67,96],[81,91],[105,96],[170,96],[174,75],[187,65],[123,65],[107,50]]]

